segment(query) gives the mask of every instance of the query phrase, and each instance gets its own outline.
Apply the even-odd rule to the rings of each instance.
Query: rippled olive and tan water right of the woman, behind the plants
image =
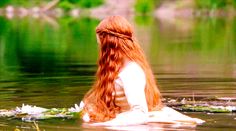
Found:
[[[179,97],[235,96],[235,19],[188,22],[192,24],[187,30],[180,30],[183,24],[162,20],[147,25],[151,46],[144,46],[162,92]],[[142,31],[138,34],[142,38]]]

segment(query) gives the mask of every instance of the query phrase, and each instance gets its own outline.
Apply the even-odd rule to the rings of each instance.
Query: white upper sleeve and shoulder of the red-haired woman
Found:
[[[123,88],[130,110],[148,112],[145,97],[146,77],[143,69],[135,62],[128,62],[121,70],[115,84]]]

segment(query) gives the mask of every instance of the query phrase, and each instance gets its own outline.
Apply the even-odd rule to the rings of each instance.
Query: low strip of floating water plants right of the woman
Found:
[[[230,113],[236,112],[236,98],[215,97],[215,98],[167,98],[164,99],[166,105],[185,112],[210,112],[210,113]]]

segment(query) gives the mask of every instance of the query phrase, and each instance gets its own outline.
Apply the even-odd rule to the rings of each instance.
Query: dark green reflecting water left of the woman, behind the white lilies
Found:
[[[8,27],[0,36],[1,108],[67,107],[82,99],[96,70],[98,20],[64,18],[60,28],[33,19],[1,21]]]

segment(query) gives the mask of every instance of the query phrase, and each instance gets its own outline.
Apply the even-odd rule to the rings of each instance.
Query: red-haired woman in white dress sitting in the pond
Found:
[[[106,126],[200,122],[163,106],[152,70],[126,19],[110,16],[100,22],[96,33],[98,70],[83,99],[85,121]]]

